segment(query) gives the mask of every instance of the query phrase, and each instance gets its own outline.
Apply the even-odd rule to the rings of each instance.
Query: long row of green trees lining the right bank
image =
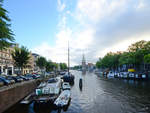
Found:
[[[128,47],[127,52],[107,53],[96,62],[97,68],[116,69],[124,64],[138,67],[144,62],[149,62],[150,41],[138,41]]]

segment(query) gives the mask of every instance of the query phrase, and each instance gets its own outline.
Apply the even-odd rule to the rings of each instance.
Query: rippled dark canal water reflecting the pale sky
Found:
[[[71,102],[65,110],[51,106],[34,109],[16,104],[5,113],[150,113],[150,84],[146,81],[103,78],[94,73],[72,71],[75,84],[71,88]],[[79,79],[83,79],[82,90]]]

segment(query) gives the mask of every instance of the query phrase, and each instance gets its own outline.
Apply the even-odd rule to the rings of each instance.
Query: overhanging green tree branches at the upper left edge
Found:
[[[7,10],[3,8],[3,0],[0,0],[0,49],[9,47],[14,42],[13,32],[10,29],[11,21]]]

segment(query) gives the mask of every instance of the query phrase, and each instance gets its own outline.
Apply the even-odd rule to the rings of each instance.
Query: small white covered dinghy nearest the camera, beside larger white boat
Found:
[[[71,92],[70,90],[64,90],[60,94],[60,96],[55,100],[54,105],[58,108],[65,107],[69,104],[71,99]]]

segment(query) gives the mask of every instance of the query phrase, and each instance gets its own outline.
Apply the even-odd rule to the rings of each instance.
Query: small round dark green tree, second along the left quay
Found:
[[[42,70],[46,67],[46,59],[44,57],[39,57],[36,61],[36,65]]]

